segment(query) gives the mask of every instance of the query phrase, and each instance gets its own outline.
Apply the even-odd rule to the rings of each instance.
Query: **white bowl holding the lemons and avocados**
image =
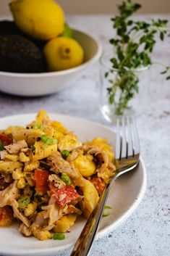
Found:
[[[1,19],[2,20],[2,19]],[[11,73],[0,71],[0,91],[20,96],[43,96],[53,94],[73,85],[87,67],[101,57],[101,44],[80,30],[73,30],[75,39],[85,52],[82,65],[69,70],[46,73]]]

